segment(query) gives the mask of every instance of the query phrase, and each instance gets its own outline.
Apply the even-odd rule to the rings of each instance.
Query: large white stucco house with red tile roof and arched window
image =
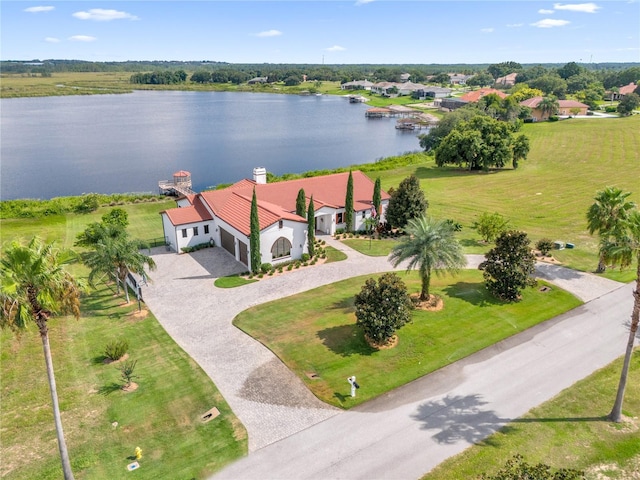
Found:
[[[364,229],[372,216],[374,183],[364,173],[353,174],[353,221],[355,230]],[[255,189],[260,223],[261,263],[278,264],[299,259],[308,252],[307,220],[296,215],[296,199],[304,189],[306,205],[313,196],[316,231],[334,234],[346,228],[345,198],[349,173],[267,183],[266,169],[253,170],[253,180],[240,180],[222,190],[188,195],[177,200],[177,208],[160,212],[165,241],[180,252],[183,247],[213,241],[251,269],[251,199]],[[381,212],[389,203],[382,191]]]

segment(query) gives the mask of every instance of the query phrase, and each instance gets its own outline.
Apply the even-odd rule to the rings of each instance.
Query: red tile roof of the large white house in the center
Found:
[[[371,208],[374,183],[364,173],[356,170],[353,173],[353,207],[362,211]],[[173,225],[184,225],[192,222],[211,220],[211,215],[204,207],[206,204],[217,217],[241,231],[250,234],[251,198],[256,189],[258,200],[258,218],[260,230],[273,225],[279,220],[306,222],[295,214],[298,191],[304,189],[307,205],[311,196],[316,210],[323,206],[331,208],[344,207],[349,173],[335,173],[321,177],[301,178],[284,182],[256,184],[251,180],[240,180],[222,189],[202,192],[196,195],[193,207],[173,208],[165,210]],[[382,191],[382,200],[390,195]]]

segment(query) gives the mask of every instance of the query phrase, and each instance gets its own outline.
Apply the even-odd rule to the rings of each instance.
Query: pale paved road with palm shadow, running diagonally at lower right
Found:
[[[621,356],[631,292],[622,286],[253,452],[213,478],[419,478]]]

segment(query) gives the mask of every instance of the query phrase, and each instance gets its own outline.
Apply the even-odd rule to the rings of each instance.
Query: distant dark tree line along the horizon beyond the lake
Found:
[[[83,60],[24,60],[1,61],[3,73],[50,75],[62,72],[154,72],[183,70],[198,73],[196,78],[204,81],[210,75],[212,83],[244,83],[254,77],[267,77],[268,82],[285,81],[302,76],[315,81],[349,82],[353,80],[400,81],[400,75],[409,73],[412,82],[425,82],[427,77],[461,73],[478,76],[480,81],[493,80],[509,73],[517,72],[518,83],[530,82],[533,78],[545,75],[558,76],[573,83],[600,82],[604,88],[615,88],[640,80],[640,63],[531,63],[520,64],[514,61],[486,64],[272,64],[272,63],[228,63],[216,61],[126,61],[126,62],[89,62]],[[482,75],[482,76],[481,76]],[[441,80],[444,80],[442,78]],[[568,93],[579,85],[568,86]]]

